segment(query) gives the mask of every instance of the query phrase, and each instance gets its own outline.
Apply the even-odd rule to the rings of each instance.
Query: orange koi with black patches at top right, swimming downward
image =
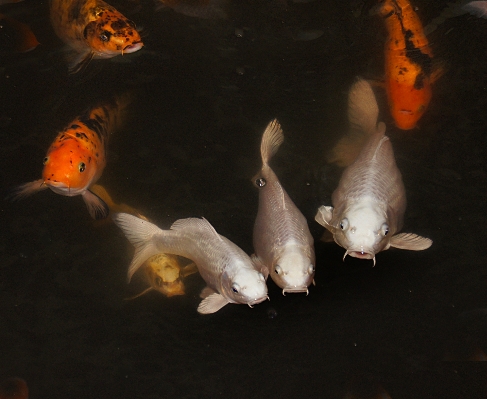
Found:
[[[410,130],[431,100],[433,53],[418,15],[408,0],[384,0],[386,91],[390,112],[399,129]]]

